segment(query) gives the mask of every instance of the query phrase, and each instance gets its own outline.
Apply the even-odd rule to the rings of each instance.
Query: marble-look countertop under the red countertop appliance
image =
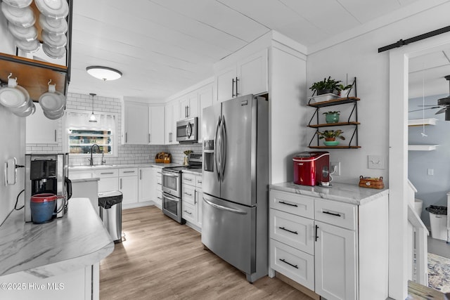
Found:
[[[349,204],[362,205],[379,197],[389,195],[388,189],[360,188],[356,184],[331,183],[329,188],[321,186],[297,185],[293,182],[276,183],[270,185],[272,190],[281,190],[288,193],[296,193],[311,197],[320,197],[327,200],[335,200]]]

